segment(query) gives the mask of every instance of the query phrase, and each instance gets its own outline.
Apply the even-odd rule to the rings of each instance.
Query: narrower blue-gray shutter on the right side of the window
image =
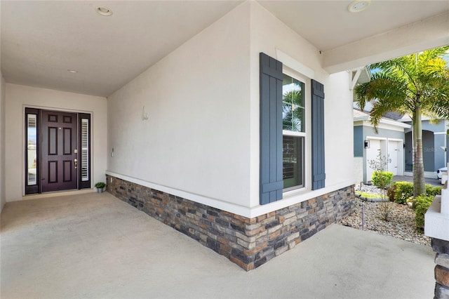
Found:
[[[311,80],[311,175],[312,190],[324,188],[324,86]]]

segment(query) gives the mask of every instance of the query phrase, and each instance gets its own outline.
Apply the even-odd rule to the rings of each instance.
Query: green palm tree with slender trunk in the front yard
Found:
[[[413,135],[413,195],[424,194],[422,115],[449,118],[449,68],[443,55],[449,46],[370,65],[371,81],[355,88],[358,107],[373,101],[371,123],[386,112],[409,114]]]

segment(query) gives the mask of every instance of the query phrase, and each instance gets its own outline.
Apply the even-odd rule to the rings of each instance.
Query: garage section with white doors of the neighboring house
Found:
[[[370,161],[377,159],[379,152],[387,157],[387,171],[404,175],[404,130],[409,128],[409,124],[382,117],[376,132],[369,112],[354,109],[354,175],[358,182],[370,182],[374,171]]]

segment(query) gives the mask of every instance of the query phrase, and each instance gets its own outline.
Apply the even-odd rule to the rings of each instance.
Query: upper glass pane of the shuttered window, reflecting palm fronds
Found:
[[[283,130],[305,132],[304,91],[304,83],[286,74],[283,75]]]

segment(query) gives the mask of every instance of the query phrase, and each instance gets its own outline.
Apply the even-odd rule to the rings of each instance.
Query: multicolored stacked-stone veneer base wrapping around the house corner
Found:
[[[354,185],[255,218],[107,176],[107,191],[253,270],[354,211]],[[112,178],[112,182],[111,182]]]

